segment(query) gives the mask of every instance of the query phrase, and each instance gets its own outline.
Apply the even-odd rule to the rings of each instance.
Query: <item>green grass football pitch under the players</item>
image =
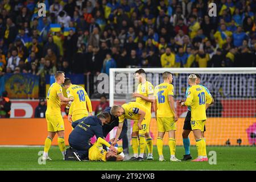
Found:
[[[43,147],[0,147],[0,170],[256,170],[256,147],[211,147],[216,151],[217,164],[208,162],[170,162],[170,151],[164,146],[166,162],[158,162],[156,146],[155,160],[143,162],[76,162],[64,161],[59,148],[52,146],[49,151],[51,161],[39,164],[39,151]],[[184,153],[182,146],[176,147],[176,157],[181,159]],[[196,147],[191,146],[191,155],[196,157]],[[211,156],[209,156],[210,158]]]

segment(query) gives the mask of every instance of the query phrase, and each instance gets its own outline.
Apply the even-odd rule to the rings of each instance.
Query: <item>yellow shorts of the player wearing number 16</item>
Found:
[[[158,131],[159,132],[177,130],[176,122],[175,122],[174,117],[157,118],[156,123],[158,124]]]

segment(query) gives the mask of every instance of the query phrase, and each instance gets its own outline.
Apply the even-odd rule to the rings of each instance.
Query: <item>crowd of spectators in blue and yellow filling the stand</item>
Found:
[[[43,84],[56,70],[255,67],[255,12],[255,0],[3,0],[0,76],[32,73]]]

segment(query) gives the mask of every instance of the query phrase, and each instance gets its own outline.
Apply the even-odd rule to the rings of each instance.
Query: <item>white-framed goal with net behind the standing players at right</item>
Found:
[[[109,77],[110,106],[135,101],[132,93],[137,92],[138,82],[135,71],[139,68],[112,68]],[[162,73],[171,72],[174,78],[175,100],[185,100],[188,76],[198,73],[201,85],[206,86],[214,98],[214,104],[207,110],[205,138],[208,145],[253,145],[256,143],[256,68],[144,68],[147,81],[156,86],[163,82]],[[176,105],[176,144],[183,145],[182,131],[187,107]],[[151,108],[150,126],[154,144],[158,130],[154,109]],[[133,121],[129,121],[129,133]],[[115,135],[115,130],[110,135]],[[189,134],[191,144],[195,144],[193,134]],[[163,140],[168,144],[167,135]]]

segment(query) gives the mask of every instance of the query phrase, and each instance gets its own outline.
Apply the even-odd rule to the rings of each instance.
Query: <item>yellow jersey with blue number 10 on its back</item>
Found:
[[[206,120],[205,104],[210,104],[212,97],[200,85],[193,85],[188,89],[188,96],[184,103],[191,106],[191,121]]]

